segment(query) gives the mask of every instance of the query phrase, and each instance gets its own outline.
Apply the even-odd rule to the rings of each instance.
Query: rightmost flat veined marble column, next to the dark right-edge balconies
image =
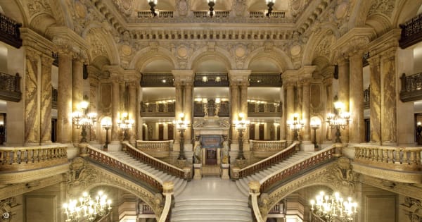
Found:
[[[390,49],[381,58],[381,143],[392,146],[397,145],[395,53]]]

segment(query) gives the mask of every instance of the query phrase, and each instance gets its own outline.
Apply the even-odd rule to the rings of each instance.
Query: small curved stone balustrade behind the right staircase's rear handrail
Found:
[[[272,140],[272,141],[262,141],[262,140],[250,140],[252,147],[252,154],[256,157],[268,157],[272,154],[280,152],[287,147],[286,140]]]

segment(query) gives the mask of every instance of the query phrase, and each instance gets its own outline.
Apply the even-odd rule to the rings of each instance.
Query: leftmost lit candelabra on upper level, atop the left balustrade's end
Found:
[[[82,139],[80,142],[87,142],[87,127],[91,128],[92,125],[96,122],[96,113],[87,113],[87,108],[89,106],[88,101],[82,101],[77,109],[82,111],[75,111],[72,113],[72,123],[77,129],[82,128],[81,136]]]

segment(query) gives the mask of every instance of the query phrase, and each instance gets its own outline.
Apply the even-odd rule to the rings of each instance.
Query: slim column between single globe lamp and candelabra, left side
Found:
[[[113,125],[111,127],[111,142],[118,142],[119,139],[119,126],[117,121],[119,120],[120,111],[120,82],[119,78],[110,78],[111,80],[111,121]]]

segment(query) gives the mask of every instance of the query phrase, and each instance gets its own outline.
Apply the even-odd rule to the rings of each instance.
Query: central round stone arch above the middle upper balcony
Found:
[[[224,63],[224,66],[226,66],[227,70],[232,70],[236,67],[236,63],[233,59],[231,59],[228,51],[220,47],[215,47],[215,51],[208,51],[208,47],[202,47],[201,49],[193,52],[186,65],[186,68],[196,70],[198,63],[207,61],[211,58]]]

